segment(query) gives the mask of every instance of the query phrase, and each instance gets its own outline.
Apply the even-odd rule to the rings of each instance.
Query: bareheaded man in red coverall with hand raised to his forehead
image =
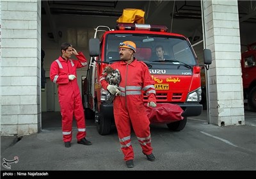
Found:
[[[70,59],[74,54],[78,60]],[[90,145],[86,140],[86,127],[82,99],[77,84],[76,69],[87,65],[82,52],[76,51],[70,43],[61,44],[61,56],[52,62],[51,81],[58,84],[58,95],[62,116],[62,134],[65,147],[71,146],[73,116],[77,123],[77,143]]]

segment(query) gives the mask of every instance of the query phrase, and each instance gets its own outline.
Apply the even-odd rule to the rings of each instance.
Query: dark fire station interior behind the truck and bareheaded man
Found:
[[[238,1],[241,52],[256,39],[256,1]],[[97,26],[114,29],[116,20],[125,8],[145,11],[145,24],[164,25],[168,32],[187,36],[202,62],[203,34],[200,1],[42,1],[42,50],[45,52],[42,67],[45,86],[41,90],[42,128],[61,127],[58,88],[49,79],[52,61],[61,55],[60,44],[70,42],[86,59],[88,41]],[[254,29],[254,30],[253,30]],[[77,81],[83,94],[86,69],[77,70]],[[90,119],[86,119],[90,123]],[[74,120],[74,126],[75,126]]]

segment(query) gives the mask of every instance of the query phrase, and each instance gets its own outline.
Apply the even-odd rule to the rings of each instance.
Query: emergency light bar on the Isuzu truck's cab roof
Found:
[[[118,23],[116,24],[117,30],[129,31],[159,31],[166,32],[166,26],[150,25],[150,24],[133,24],[133,23]]]

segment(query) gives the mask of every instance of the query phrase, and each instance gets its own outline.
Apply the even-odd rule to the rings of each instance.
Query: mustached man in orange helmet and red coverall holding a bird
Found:
[[[148,105],[156,107],[156,89],[145,63],[134,58],[136,44],[131,41],[120,43],[121,61],[111,64],[121,75],[119,87],[108,84],[106,74],[100,76],[100,84],[104,89],[116,95],[113,101],[114,117],[118,137],[127,167],[133,167],[134,152],[131,145],[131,125],[138,138],[142,152],[147,159],[154,161],[150,137],[150,121],[143,104],[141,90],[148,95]],[[119,91],[120,90],[120,91]],[[119,95],[120,94],[120,95]]]

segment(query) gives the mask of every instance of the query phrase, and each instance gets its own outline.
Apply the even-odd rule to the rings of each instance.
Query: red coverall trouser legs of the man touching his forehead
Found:
[[[60,97],[59,97],[60,98]],[[80,141],[86,136],[83,104],[80,96],[74,98],[73,94],[60,98],[63,141],[72,141],[73,114],[77,125],[77,140]]]

